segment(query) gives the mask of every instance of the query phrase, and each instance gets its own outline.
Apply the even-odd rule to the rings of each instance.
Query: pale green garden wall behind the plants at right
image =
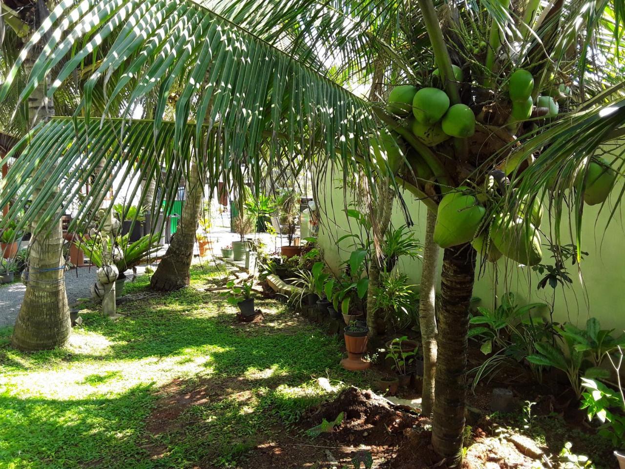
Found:
[[[333,269],[339,268],[341,261],[349,257],[351,243],[349,240],[337,243],[342,235],[349,232],[347,228],[349,222],[344,213],[344,206],[346,202],[349,204],[352,201],[349,197],[347,201],[345,200],[341,184],[341,173],[328,174],[324,187],[319,189],[319,200],[317,200],[319,209],[326,212],[326,216],[321,217],[324,223],[319,229],[319,245],[326,261]],[[616,194],[620,190],[621,187],[617,186],[613,193]],[[412,229],[416,237],[422,240],[426,208],[411,193],[404,191],[402,195],[414,223]],[[544,203],[546,204],[546,201]],[[569,261],[567,268],[573,283],[564,290],[561,287],[556,290],[555,321],[571,321],[583,325],[587,318],[594,316],[601,321],[602,328],[625,330],[625,228],[622,223],[622,210],[619,209],[619,212],[615,214],[606,231],[609,206],[606,205],[602,211],[599,206],[584,206],[582,250],[586,251],[588,256],[582,261],[583,279],[578,275],[577,266],[572,266]],[[550,228],[547,218],[547,213],[545,213],[541,226],[543,231]],[[392,223],[395,226],[405,223],[398,203],[394,206]],[[354,229],[357,228],[354,221],[351,221],[351,225]],[[563,224],[562,230],[569,232],[568,221],[566,221],[566,226]],[[563,241],[565,244],[568,242]],[[549,258],[551,253],[546,250],[546,246],[543,248],[543,263],[552,264],[552,259]],[[478,264],[480,260],[478,256]],[[441,262],[439,262],[439,267],[440,265]],[[419,283],[421,261],[401,259],[399,268],[415,284]],[[551,303],[553,295],[551,287],[537,290],[537,284],[541,278],[541,275],[537,275],[530,268],[519,268],[502,258],[495,265],[489,263],[486,268],[482,268],[473,294],[481,298],[481,305],[487,307],[494,305],[495,291],[497,295],[511,291],[517,296],[519,303],[531,301]]]

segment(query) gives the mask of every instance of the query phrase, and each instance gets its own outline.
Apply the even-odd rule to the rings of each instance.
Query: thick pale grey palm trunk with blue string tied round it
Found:
[[[39,51],[31,51],[24,68],[29,74]],[[41,83],[28,99],[29,119],[36,125],[54,115],[53,100]],[[51,172],[54,168],[51,169]],[[37,198],[39,190],[34,198]],[[55,196],[50,194],[51,201]],[[39,213],[46,211],[46,204]],[[28,281],[12,335],[12,345],[21,350],[49,350],[64,345],[71,333],[68,296],[65,291],[63,228],[61,214],[44,222],[36,216],[31,225]]]

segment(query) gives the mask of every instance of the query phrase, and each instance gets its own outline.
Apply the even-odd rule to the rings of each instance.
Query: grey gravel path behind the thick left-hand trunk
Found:
[[[137,268],[138,275],[145,271],[144,266]],[[132,278],[132,273],[129,275]],[[91,296],[91,285],[96,281],[96,268],[83,267],[72,269],[65,273],[65,290],[68,293],[69,306],[76,304],[78,298]],[[0,287],[0,327],[12,326],[24,299],[26,286],[21,283],[11,283]]]

